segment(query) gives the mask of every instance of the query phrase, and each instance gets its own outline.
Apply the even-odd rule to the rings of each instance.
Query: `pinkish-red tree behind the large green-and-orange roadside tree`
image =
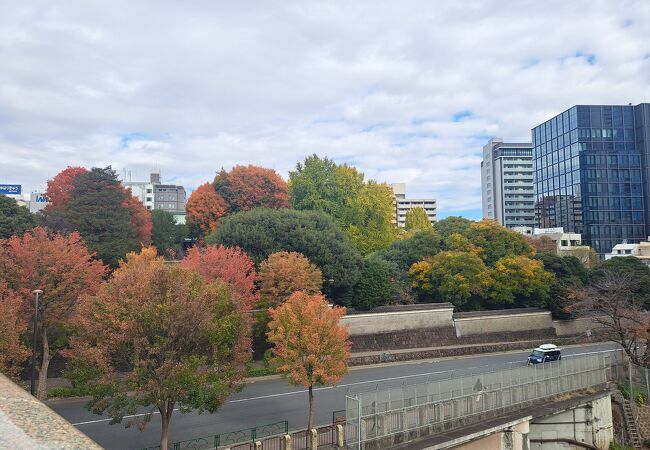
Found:
[[[250,311],[258,299],[257,272],[253,260],[241,248],[208,245],[192,247],[181,266],[200,274],[209,283],[220,280],[232,289],[233,301],[241,311]]]

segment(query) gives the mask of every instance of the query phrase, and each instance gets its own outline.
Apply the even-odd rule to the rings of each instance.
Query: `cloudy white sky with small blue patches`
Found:
[[[488,139],[650,102],[650,1],[0,2],[0,184],[306,155],[481,216]],[[126,172],[125,172],[126,171]]]

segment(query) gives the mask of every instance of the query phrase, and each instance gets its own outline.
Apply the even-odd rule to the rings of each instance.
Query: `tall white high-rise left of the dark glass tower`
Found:
[[[491,139],[481,161],[483,218],[513,228],[535,224],[533,150],[529,143]]]

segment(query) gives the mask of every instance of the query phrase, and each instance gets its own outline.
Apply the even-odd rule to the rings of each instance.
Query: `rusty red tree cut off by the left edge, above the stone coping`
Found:
[[[22,299],[0,280],[0,372],[11,378],[20,374],[29,351],[20,340],[27,330],[21,317]]]

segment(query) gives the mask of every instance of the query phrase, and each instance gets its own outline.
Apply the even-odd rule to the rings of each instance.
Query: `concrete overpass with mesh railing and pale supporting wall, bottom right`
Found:
[[[513,365],[346,398],[346,444],[365,450],[608,448],[622,352]]]

